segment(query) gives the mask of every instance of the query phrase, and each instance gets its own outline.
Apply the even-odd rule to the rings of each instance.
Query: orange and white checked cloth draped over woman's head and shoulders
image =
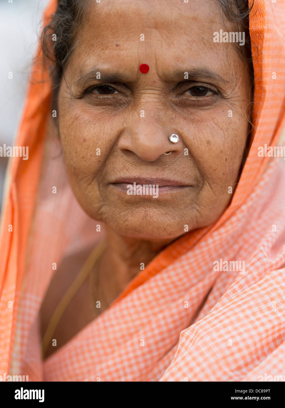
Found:
[[[251,1],[250,1],[251,3]],[[48,5],[44,23],[55,11]],[[29,381],[264,381],[285,366],[285,162],[259,157],[285,120],[285,2],[255,0],[253,140],[230,206],[213,227],[169,245],[110,308],[42,361],[39,308],[54,264],[95,243],[59,141],[41,55],[7,172],[0,240],[0,374]],[[275,73],[275,74],[274,74]],[[42,79],[46,79],[44,82]],[[53,187],[57,194],[53,194]],[[244,261],[244,273],[213,262]],[[203,300],[206,302],[199,310]]]

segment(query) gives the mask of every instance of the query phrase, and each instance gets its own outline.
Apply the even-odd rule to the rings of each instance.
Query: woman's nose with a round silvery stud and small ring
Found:
[[[173,158],[183,151],[181,136],[173,126],[167,126],[165,112],[159,114],[153,109],[146,109],[144,117],[140,114],[132,115],[131,124],[122,131],[118,141],[121,152],[135,154],[145,162],[154,162],[164,153],[171,151],[169,157]],[[173,133],[179,136],[177,143],[169,140]]]

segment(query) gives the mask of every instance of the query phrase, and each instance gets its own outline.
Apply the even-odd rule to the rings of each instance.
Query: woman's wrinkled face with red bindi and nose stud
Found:
[[[228,31],[218,3],[94,1],[88,15],[58,100],[77,200],[128,237],[175,238],[215,222],[238,180],[250,104],[237,44],[213,41]],[[134,182],[158,184],[158,197],[129,195]]]

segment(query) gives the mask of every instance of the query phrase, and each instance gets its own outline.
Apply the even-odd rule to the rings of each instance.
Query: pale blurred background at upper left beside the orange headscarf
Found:
[[[0,0],[0,146],[13,146],[42,13],[49,0]],[[8,79],[8,73],[13,79]],[[0,208],[8,157],[0,157]]]

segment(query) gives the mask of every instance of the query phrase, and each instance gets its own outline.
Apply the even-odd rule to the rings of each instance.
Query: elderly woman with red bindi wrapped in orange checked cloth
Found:
[[[285,164],[267,146],[284,16],[283,1],[50,2],[17,139],[29,160],[6,184],[2,373],[281,374]]]

